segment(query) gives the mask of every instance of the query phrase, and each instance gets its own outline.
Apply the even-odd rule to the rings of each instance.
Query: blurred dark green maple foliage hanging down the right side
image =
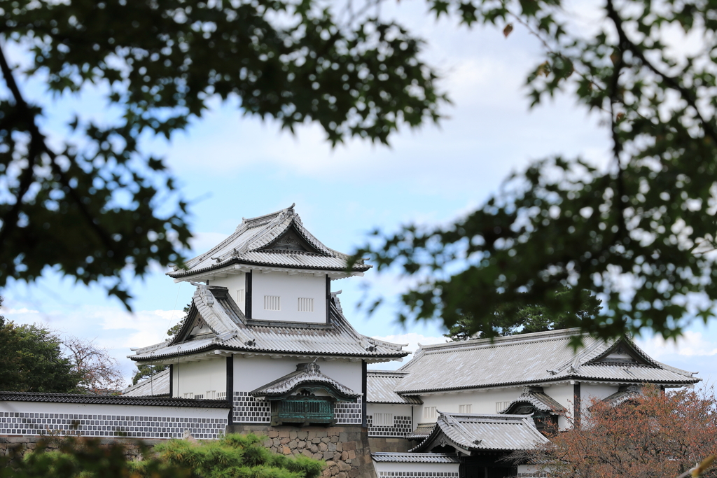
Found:
[[[498,335],[492,321],[505,304],[576,315],[589,290],[604,307],[579,325],[601,338],[641,330],[675,338],[695,317],[709,320],[717,304],[713,1],[607,0],[591,4],[589,27],[561,0],[429,4],[437,16],[493,24],[506,37],[514,25],[527,29],[543,48],[527,75],[531,105],[571,96],[604,125],[612,159],[600,168],[582,158],[536,161],[453,224],[375,231],[355,257],[414,284],[399,319],[450,328],[470,316],[474,330]],[[564,287],[571,292],[557,293]]]

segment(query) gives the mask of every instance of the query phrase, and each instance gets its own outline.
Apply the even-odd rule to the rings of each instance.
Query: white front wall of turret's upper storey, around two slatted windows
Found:
[[[281,310],[264,310],[265,295],[281,297]],[[313,298],[313,312],[298,311],[299,297]],[[252,272],[252,319],[326,323],[326,274]]]

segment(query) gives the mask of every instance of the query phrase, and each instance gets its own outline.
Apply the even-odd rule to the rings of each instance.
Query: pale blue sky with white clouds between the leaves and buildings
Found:
[[[448,21],[436,22],[424,9],[421,2],[403,2],[384,14],[396,16],[427,39],[424,56],[442,71],[440,85],[453,101],[445,107],[449,118],[440,127],[402,131],[390,148],[349,141],[332,150],[319,128],[306,126],[292,136],[227,104],[215,105],[171,143],[146,143],[166,157],[184,195],[193,200],[195,253],[234,231],[242,216],[292,203],[321,241],[351,252],[374,227],[390,230],[409,221],[442,224],[471,211],[508,173],[531,160],[580,155],[601,164],[609,157],[599,118],[587,115],[570,97],[528,110],[523,82],[539,62],[535,39],[520,27],[508,39],[500,29],[468,31]],[[574,14],[581,21],[579,8]],[[24,91],[45,98],[40,83],[25,84]],[[44,125],[47,133],[61,135],[62,120],[75,110],[100,119],[111,114],[96,98],[87,91],[55,102]],[[191,297],[193,287],[174,284],[164,272],[157,267],[135,282],[133,315],[100,287],[75,286],[51,271],[35,285],[10,283],[2,291],[2,313],[16,322],[42,322],[62,333],[96,338],[129,375],[133,365],[125,356],[130,346],[163,340]],[[442,340],[444,331],[437,323],[397,324],[391,305],[372,317],[357,311],[362,284],[394,298],[404,287],[395,277],[377,277],[376,272],[333,282],[333,290],[343,290],[344,310],[361,333],[412,347]],[[713,325],[695,325],[676,348],[654,338],[640,343],[659,360],[701,371],[711,380],[717,364]]]

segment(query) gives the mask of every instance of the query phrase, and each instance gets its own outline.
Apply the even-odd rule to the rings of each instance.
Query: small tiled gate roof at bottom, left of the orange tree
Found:
[[[440,414],[432,433],[410,451],[452,446],[463,454],[473,455],[481,451],[529,450],[548,441],[529,416]]]

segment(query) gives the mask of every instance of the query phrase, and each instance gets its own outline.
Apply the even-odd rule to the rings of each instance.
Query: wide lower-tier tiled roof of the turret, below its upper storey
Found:
[[[209,333],[191,335],[201,321]],[[158,361],[210,350],[267,355],[333,356],[366,360],[402,358],[409,352],[402,345],[361,335],[341,312],[336,293],[329,300],[326,324],[267,321],[252,324],[244,316],[226,287],[199,285],[184,325],[176,337],[135,350],[132,360]]]

